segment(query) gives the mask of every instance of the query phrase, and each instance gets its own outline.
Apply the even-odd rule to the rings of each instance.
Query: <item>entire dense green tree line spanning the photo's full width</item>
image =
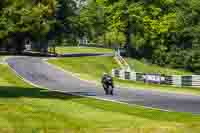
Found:
[[[127,47],[133,57],[200,71],[199,0],[1,0],[0,47],[29,37]]]

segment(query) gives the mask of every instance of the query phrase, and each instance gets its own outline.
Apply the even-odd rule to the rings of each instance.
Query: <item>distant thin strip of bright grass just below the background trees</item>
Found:
[[[58,54],[66,53],[112,53],[112,49],[95,47],[56,47]]]

